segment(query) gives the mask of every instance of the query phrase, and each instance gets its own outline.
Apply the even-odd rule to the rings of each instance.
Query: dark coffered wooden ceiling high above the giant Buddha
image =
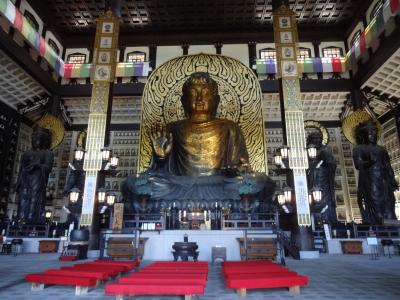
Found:
[[[28,0],[63,39],[92,33],[106,2],[121,12],[121,32],[179,33],[265,30],[272,27],[272,0]],[[341,30],[367,0],[289,0],[301,27]]]

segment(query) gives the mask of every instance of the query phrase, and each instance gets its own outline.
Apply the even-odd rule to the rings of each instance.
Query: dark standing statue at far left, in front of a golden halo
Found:
[[[46,186],[53,167],[51,134],[37,127],[32,133],[32,149],[21,157],[17,180],[18,219],[26,223],[43,223]]]

